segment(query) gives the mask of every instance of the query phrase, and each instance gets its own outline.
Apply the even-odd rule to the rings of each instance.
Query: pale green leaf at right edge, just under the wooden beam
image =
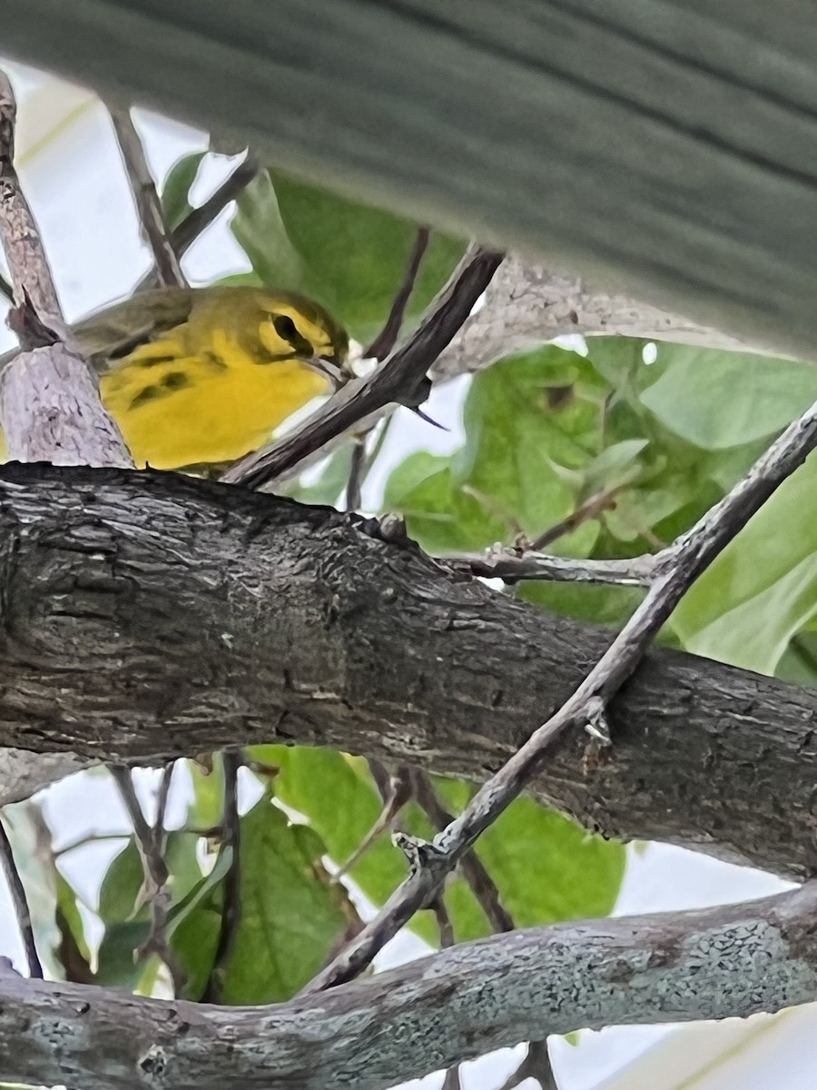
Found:
[[[780,432],[817,400],[817,367],[744,352],[662,344],[668,365],[641,396],[664,427],[708,450]]]

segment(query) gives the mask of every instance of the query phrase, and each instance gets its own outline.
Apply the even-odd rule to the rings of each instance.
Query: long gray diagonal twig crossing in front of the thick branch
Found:
[[[416,852],[420,865],[305,991],[320,991],[358,976],[414,912],[431,903],[446,875],[537,774],[559,735],[582,726],[597,743],[609,744],[607,705],[638,666],[654,635],[697,577],[816,446],[817,403],[791,424],[729,495],[668,550],[644,601],[578,689],[483,785],[434,844]]]

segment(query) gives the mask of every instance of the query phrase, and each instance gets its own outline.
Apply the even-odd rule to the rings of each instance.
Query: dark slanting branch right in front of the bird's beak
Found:
[[[365,426],[385,405],[422,404],[430,389],[428,368],[471,314],[501,262],[502,255],[492,250],[472,247],[406,344],[368,378],[347,383],[292,435],[242,459],[222,481],[258,488],[354,425]]]

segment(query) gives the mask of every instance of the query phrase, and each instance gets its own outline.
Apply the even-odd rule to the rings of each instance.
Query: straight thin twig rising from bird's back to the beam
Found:
[[[119,142],[119,149],[122,153],[125,173],[131,183],[139,222],[156,261],[159,283],[184,288],[187,286],[187,281],[182,272],[179,253],[168,230],[168,225],[164,222],[156,183],[147,165],[145,149],[133,123],[131,110],[127,106],[120,106],[115,102],[111,102],[108,110]]]

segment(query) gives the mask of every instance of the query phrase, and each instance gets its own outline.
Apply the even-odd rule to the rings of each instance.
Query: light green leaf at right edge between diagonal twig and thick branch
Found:
[[[671,623],[687,651],[773,674],[817,614],[813,455],[687,592]]]

